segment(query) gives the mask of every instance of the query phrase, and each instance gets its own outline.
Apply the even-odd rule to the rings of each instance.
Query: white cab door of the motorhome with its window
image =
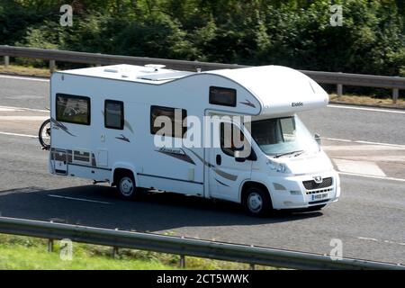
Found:
[[[239,186],[251,175],[252,161],[247,159],[250,154],[249,143],[236,123],[220,120],[211,124],[218,125],[211,131],[219,133],[217,137],[212,136],[213,139],[219,139],[220,143],[213,143],[213,147],[209,149],[210,195],[214,198],[238,201]]]

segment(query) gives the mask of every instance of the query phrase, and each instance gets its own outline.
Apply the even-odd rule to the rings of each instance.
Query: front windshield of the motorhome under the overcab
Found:
[[[252,121],[251,134],[262,151],[271,157],[298,156],[320,149],[297,116]]]

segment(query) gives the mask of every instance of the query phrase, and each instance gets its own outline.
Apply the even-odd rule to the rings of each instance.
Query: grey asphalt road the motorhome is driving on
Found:
[[[47,82],[0,76],[0,106],[43,109],[48,106],[48,91]],[[326,138],[405,144],[404,113],[330,107],[302,113],[302,120]],[[336,148],[345,142],[326,140],[325,144]],[[342,196],[323,211],[255,219],[245,216],[236,204],[173,193],[151,193],[139,202],[125,202],[111,187],[49,175],[48,153],[40,150],[37,139],[0,134],[0,147],[3,216],[156,233],[170,231],[192,238],[320,254],[329,254],[331,239],[339,238],[344,257],[405,263],[403,181],[341,175]],[[370,149],[365,155],[370,153],[379,155],[380,150]],[[396,153],[395,157],[404,155],[403,150]],[[395,163],[394,176],[405,178],[401,174],[405,166],[401,161]],[[388,175],[389,169],[383,169]]]

